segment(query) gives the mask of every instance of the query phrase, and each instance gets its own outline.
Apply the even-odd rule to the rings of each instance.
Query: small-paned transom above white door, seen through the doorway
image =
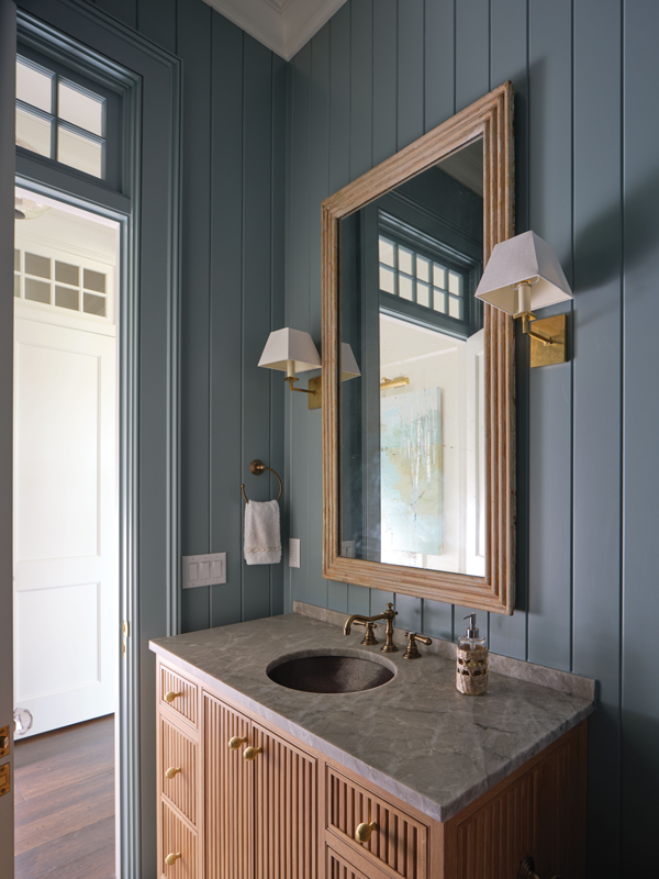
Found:
[[[56,257],[14,249],[14,297],[112,322],[108,275]]]

